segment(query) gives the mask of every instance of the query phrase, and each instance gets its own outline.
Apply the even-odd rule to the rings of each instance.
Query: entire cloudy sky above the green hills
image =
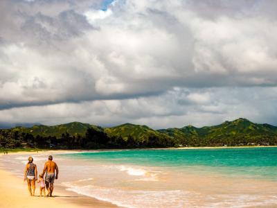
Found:
[[[0,126],[277,125],[275,0],[1,0]]]

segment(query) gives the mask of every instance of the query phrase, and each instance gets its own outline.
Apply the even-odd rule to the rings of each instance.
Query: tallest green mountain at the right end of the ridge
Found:
[[[252,123],[242,118],[202,128],[188,125],[183,128],[168,128],[158,131],[179,139],[181,143],[190,144],[190,141],[197,140],[199,144],[203,145],[267,142],[277,137],[276,126]]]

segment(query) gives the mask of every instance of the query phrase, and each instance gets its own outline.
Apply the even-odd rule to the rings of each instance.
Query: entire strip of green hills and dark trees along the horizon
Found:
[[[125,123],[101,128],[89,123],[33,125],[0,130],[0,147],[40,148],[151,148],[172,146],[277,145],[277,127],[247,119],[196,128],[153,130],[146,125]]]

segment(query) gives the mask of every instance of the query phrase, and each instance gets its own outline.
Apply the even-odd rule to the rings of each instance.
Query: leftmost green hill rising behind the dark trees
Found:
[[[61,137],[62,134],[69,133],[69,135],[77,136],[82,135],[84,136],[87,128],[94,128],[96,130],[101,130],[100,127],[97,127],[96,125],[91,125],[89,123],[80,123],[80,122],[71,122],[71,123],[65,123],[61,125],[33,125],[33,127],[25,128],[25,127],[15,127],[11,130],[13,132],[25,132],[29,133],[30,135],[33,135],[36,137],[37,135],[42,137]]]

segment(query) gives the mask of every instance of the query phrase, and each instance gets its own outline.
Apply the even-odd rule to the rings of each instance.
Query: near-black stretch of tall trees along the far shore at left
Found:
[[[60,137],[33,136],[30,133],[0,130],[1,148],[59,148],[59,149],[93,149],[93,148],[156,148],[175,146],[174,139],[168,137],[150,136],[146,139],[135,139],[131,135],[109,137],[104,131],[87,128],[84,135],[62,133]]]

